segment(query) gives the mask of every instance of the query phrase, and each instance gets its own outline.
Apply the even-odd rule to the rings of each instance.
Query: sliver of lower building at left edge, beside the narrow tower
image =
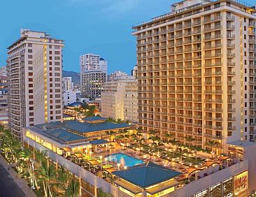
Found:
[[[7,76],[0,76],[0,124],[8,127],[8,83]]]

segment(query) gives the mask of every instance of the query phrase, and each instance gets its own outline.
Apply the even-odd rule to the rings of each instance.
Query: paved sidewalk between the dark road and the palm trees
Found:
[[[6,168],[6,170],[8,170],[8,167],[9,167],[8,163],[3,158],[3,156],[1,156],[1,154],[0,154],[0,163],[2,164],[3,168]],[[20,187],[20,189],[22,189],[22,191],[27,197],[36,197],[36,194],[34,194],[34,192],[27,185],[27,181],[20,178],[19,175],[15,172],[15,170],[13,170],[13,168],[10,168],[10,170],[8,170],[8,173],[16,182],[17,186]]]

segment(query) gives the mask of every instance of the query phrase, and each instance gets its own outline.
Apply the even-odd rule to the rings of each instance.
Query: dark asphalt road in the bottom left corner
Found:
[[[17,186],[13,178],[0,163],[0,197],[25,197],[24,192]]]

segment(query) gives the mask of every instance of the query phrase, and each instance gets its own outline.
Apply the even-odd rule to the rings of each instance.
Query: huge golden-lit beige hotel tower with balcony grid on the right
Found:
[[[225,143],[255,140],[253,6],[192,0],[171,9],[133,27],[138,124],[217,154]]]

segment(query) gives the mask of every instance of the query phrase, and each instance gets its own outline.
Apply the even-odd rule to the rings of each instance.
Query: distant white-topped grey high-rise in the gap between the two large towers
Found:
[[[101,96],[101,85],[106,82],[107,61],[97,54],[80,56],[81,96],[94,99]]]

